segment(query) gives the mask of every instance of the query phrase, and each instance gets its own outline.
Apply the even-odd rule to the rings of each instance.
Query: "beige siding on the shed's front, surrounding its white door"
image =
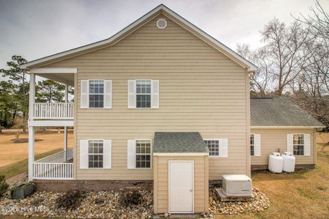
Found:
[[[208,211],[208,156],[162,157],[156,156],[157,164],[154,171],[154,211],[168,212],[168,164],[170,160],[194,161],[194,212]]]

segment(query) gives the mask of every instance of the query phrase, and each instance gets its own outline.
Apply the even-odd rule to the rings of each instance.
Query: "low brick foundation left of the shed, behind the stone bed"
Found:
[[[152,180],[34,180],[34,183],[37,191],[47,192],[153,190]]]

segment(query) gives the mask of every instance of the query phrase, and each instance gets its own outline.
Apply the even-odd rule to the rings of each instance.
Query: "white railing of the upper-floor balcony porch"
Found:
[[[35,119],[73,119],[73,103],[34,103]]]

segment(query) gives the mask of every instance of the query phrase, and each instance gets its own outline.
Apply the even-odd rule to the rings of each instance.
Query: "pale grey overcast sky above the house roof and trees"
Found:
[[[236,49],[258,47],[271,18],[290,23],[291,14],[308,14],[315,0],[0,0],[0,68],[12,55],[32,61],[109,38],[160,3]],[[329,1],[320,3],[328,11]]]

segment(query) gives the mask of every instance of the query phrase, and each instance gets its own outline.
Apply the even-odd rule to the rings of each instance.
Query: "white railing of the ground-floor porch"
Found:
[[[73,149],[68,149],[67,160],[73,159]],[[73,179],[73,163],[65,162],[65,151],[38,159],[33,164],[33,179]]]

